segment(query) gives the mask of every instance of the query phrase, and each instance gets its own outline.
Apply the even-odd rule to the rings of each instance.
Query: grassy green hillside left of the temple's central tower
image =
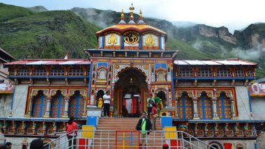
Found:
[[[72,58],[85,58],[83,49],[96,47],[99,30],[71,11],[31,13],[0,26],[0,47],[18,59],[63,58],[67,52]]]

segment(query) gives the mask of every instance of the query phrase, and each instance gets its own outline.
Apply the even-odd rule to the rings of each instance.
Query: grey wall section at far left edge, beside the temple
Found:
[[[6,118],[10,115],[12,102],[12,93],[0,94],[0,118]]]

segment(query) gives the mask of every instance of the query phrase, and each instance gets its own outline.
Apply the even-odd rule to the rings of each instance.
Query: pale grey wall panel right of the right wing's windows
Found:
[[[250,102],[247,86],[236,86],[236,102],[239,112],[239,120],[250,120]]]

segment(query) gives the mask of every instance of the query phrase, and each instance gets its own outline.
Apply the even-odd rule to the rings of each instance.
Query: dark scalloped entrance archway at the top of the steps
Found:
[[[123,117],[139,117],[146,109],[146,74],[138,68],[128,67],[117,75],[119,80],[114,85],[114,109]]]

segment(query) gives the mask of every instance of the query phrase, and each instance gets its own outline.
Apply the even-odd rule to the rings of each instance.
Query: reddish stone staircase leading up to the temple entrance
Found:
[[[125,148],[126,146],[127,148],[129,148],[128,146],[138,148],[139,132],[135,130],[138,120],[139,118],[100,118],[91,148],[100,148],[100,146],[101,148],[116,148],[116,145],[117,148],[124,146]],[[158,119],[156,120],[156,130],[162,130],[162,125]],[[160,132],[151,132],[149,134],[149,148],[152,146],[160,146],[161,148],[162,137]]]

